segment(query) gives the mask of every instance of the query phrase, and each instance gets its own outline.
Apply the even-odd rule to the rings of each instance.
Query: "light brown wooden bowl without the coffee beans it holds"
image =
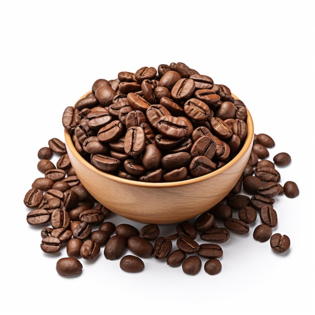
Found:
[[[123,179],[98,170],[75,149],[65,130],[70,163],[88,192],[112,212],[140,223],[171,224],[191,219],[221,201],[240,179],[252,151],[254,125],[247,111],[248,134],[240,152],[220,169],[168,183]]]

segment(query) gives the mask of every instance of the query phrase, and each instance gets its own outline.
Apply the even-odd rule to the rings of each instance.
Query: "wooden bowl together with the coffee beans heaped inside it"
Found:
[[[184,221],[239,180],[254,126],[226,86],[182,62],[91,86],[64,110],[65,145],[77,178],[111,211],[143,223]]]

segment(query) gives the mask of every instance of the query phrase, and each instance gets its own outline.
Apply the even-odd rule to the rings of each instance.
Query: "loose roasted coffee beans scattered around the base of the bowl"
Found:
[[[280,152],[273,162],[268,160],[268,148],[274,145],[269,135],[255,135],[248,165],[230,193],[198,217],[170,225],[171,233],[163,234],[156,224],[139,228],[122,217],[117,216],[118,224],[107,220],[115,214],[89,194],[71,167],[65,144],[52,138],[38,151],[37,168],[43,176],[25,194],[26,220],[38,227],[44,253],[65,252],[66,257],[56,262],[56,271],[63,277],[81,275],[84,261],[100,254],[104,262],[119,261],[125,272],[141,272],[145,260],[156,259],[181,267],[187,275],[198,274],[202,267],[206,274],[215,275],[222,268],[221,245],[233,234],[248,234],[250,226],[254,225],[253,238],[269,241],[273,252],[282,254],[290,248],[286,234],[273,234],[278,224],[274,203],[281,195],[298,196],[299,189],[293,181],[280,184],[278,169],[288,166],[291,157]]]

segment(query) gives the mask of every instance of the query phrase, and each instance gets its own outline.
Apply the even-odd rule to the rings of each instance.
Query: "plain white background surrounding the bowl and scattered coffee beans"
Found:
[[[311,1],[8,1],[0,5],[2,314],[314,312],[314,71]],[[231,235],[222,271],[196,276],[144,259],[128,274],[103,256],[83,261],[80,277],[63,278],[40,249],[40,229],[23,204],[37,171],[37,151],[63,139],[61,116],[98,78],[184,62],[228,86],[252,113],[255,132],[273,137],[270,159],[292,162],[281,182],[297,198],[276,198],[287,254],[269,242]],[[128,222],[111,217],[114,222]],[[141,224],[136,224],[141,226]],[[172,227],[174,228],[174,226]],[[163,229],[172,229],[170,226]],[[204,260],[203,260],[204,262]]]

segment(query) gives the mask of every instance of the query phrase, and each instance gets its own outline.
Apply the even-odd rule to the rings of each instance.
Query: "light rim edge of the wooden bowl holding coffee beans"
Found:
[[[83,99],[84,97],[86,97],[88,94],[90,94],[91,91],[89,91],[88,93],[86,93],[85,95],[83,95],[79,100]],[[237,96],[235,96],[234,94],[231,94],[235,99],[239,100],[239,98]],[[74,155],[74,157],[80,161],[85,167],[87,167],[88,169],[90,169],[91,171],[99,174],[102,177],[105,177],[109,180],[115,181],[115,182],[120,182],[123,184],[127,184],[127,185],[133,185],[133,186],[142,186],[142,187],[175,187],[175,186],[183,186],[183,185],[190,185],[193,183],[198,183],[204,180],[207,180],[211,177],[214,177],[218,174],[223,173],[226,169],[230,168],[231,166],[233,166],[235,163],[237,163],[238,161],[240,161],[240,159],[243,157],[243,155],[245,154],[245,152],[249,149],[250,145],[253,143],[253,139],[254,139],[254,123],[253,123],[253,118],[251,113],[249,112],[248,108],[246,107],[247,110],[247,135],[246,135],[246,139],[244,141],[243,147],[241,148],[241,150],[239,151],[239,153],[237,155],[235,155],[233,157],[233,159],[231,161],[229,161],[228,163],[226,163],[224,166],[222,166],[221,168],[209,173],[209,174],[205,174],[199,177],[194,177],[194,178],[190,178],[190,179],[186,179],[183,181],[176,181],[176,182],[141,182],[141,181],[135,181],[135,180],[131,180],[131,179],[125,179],[116,175],[112,175],[109,173],[106,173],[104,171],[99,170],[98,168],[96,168],[95,166],[93,166],[91,163],[89,163],[88,161],[86,161],[84,159],[84,157],[82,157],[82,155],[76,150],[73,142],[72,142],[72,138],[71,135],[69,133],[68,130],[64,129],[64,138],[65,138],[65,142],[66,142],[66,147],[68,147],[68,149],[71,151],[71,153]]]

